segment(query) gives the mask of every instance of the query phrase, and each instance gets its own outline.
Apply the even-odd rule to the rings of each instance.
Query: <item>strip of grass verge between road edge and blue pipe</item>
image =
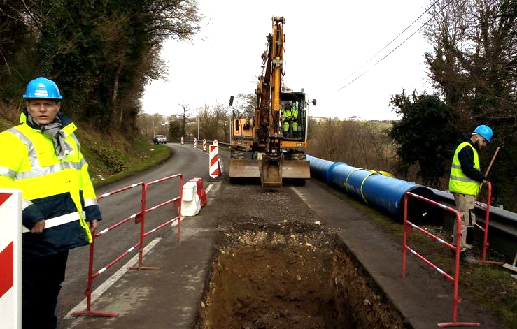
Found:
[[[313,181],[330,191],[334,196],[367,214],[383,231],[392,235],[394,240],[399,241],[402,247],[402,224],[364,205],[364,203],[332,189],[319,180],[313,179]],[[451,241],[451,232],[445,231],[441,226],[424,226],[424,228],[446,241]],[[408,244],[432,263],[438,265],[439,268],[453,275],[454,256],[449,251],[450,249],[417,232],[408,236]],[[474,249],[474,254],[478,255],[480,253],[479,249]],[[408,257],[411,257],[411,254]],[[504,261],[500,255],[490,251],[490,249],[487,259]],[[431,268],[429,269],[431,270]],[[460,297],[468,299],[484,312],[493,314],[495,319],[507,328],[517,328],[517,280],[510,277],[509,274],[508,270],[497,265],[461,263]]]

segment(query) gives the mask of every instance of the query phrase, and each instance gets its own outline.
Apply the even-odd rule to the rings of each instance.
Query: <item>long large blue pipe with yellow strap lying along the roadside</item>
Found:
[[[434,193],[427,187],[398,180],[369,170],[348,166],[342,162],[332,162],[307,155],[311,163],[311,175],[327,182],[351,196],[360,198],[378,210],[388,212],[397,219],[404,216],[404,194],[413,192],[426,198],[433,198]],[[421,203],[409,203],[410,214],[414,217],[425,217],[429,207]],[[416,205],[419,205],[416,207]]]

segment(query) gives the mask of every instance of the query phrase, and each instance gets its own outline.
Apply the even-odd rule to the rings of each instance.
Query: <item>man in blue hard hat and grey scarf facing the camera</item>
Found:
[[[55,329],[69,249],[92,242],[101,212],[55,82],[31,80],[23,98],[0,133],[0,188],[22,190],[22,328]]]

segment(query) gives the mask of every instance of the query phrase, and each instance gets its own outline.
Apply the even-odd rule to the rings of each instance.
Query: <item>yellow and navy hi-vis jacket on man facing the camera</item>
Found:
[[[45,256],[92,242],[87,221],[101,220],[97,198],[73,131],[75,124],[58,112],[64,140],[73,152],[62,161],[53,141],[26,122],[0,133],[0,188],[22,190],[23,254]],[[45,219],[43,233],[30,233]]]

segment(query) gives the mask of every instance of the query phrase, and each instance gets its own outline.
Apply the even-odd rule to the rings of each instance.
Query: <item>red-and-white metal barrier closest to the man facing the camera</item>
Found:
[[[136,184],[129,185],[127,187],[122,187],[122,189],[117,189],[117,190],[111,191],[109,193],[104,193],[103,195],[101,195],[101,196],[99,196],[97,198],[97,202],[99,200],[103,199],[103,198],[106,198],[107,196],[113,196],[114,194],[120,193],[122,191],[127,191],[129,189],[133,189],[133,188],[139,187],[139,186],[142,187],[142,196],[143,196],[143,193],[145,191],[145,184],[143,184],[143,182],[139,182],[139,183],[136,183]],[[143,200],[143,198],[142,198],[142,200]],[[132,214],[131,216],[129,216],[129,217],[125,218],[125,219],[122,219],[117,224],[114,224],[114,225],[112,225],[112,226],[110,226],[108,228],[105,228],[104,230],[100,231],[99,233],[92,234],[93,241],[90,244],[90,261],[88,263],[88,280],[87,280],[87,288],[86,288],[86,291],[85,291],[86,309],[84,311],[73,312],[72,316],[109,316],[109,317],[118,316],[118,312],[92,311],[91,308],[92,308],[92,284],[93,284],[93,279],[95,279],[96,277],[101,275],[102,272],[104,272],[108,268],[111,268],[111,266],[115,265],[115,263],[117,263],[122,258],[127,256],[131,251],[133,251],[136,247],[138,247],[140,245],[140,242],[137,243],[137,244],[134,244],[133,247],[127,249],[124,253],[122,253],[120,256],[118,256],[113,261],[111,261],[111,263],[108,263],[108,265],[104,266],[104,268],[101,268],[101,270],[97,271],[96,273],[93,273],[93,260],[94,260],[95,240],[97,239],[97,237],[100,237],[104,233],[107,233],[108,231],[111,231],[114,228],[117,228],[118,226],[121,226],[122,224],[127,223],[127,221],[130,221],[132,219],[136,219],[137,217],[141,216],[141,214],[142,214],[142,212],[137,212],[136,214]]]

